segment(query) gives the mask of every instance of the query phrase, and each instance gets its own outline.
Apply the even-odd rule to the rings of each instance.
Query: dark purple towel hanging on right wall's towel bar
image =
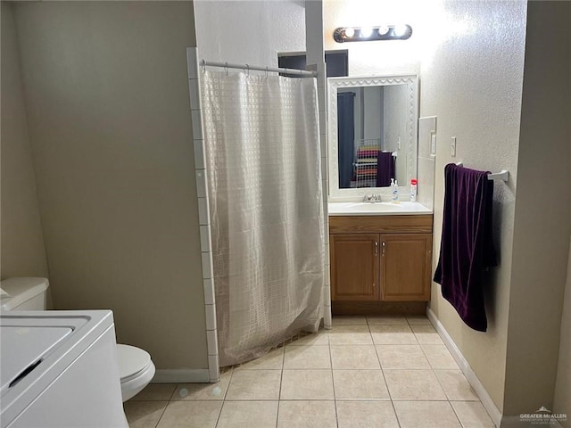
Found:
[[[483,271],[496,266],[492,243],[493,182],[489,172],[458,167],[444,169],[443,236],[434,281],[442,284],[469,327],[485,332]]]

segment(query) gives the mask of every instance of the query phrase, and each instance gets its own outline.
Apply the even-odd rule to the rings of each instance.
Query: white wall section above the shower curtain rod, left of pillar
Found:
[[[200,59],[277,67],[277,53],[305,51],[303,2],[194,3]]]

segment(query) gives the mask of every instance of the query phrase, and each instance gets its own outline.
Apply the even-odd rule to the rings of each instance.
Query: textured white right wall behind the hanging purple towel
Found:
[[[434,182],[435,267],[443,222],[443,169],[509,169],[509,183],[494,185],[493,233],[500,264],[485,278],[488,331],[464,325],[433,284],[431,309],[500,410],[504,402],[508,342],[517,152],[525,48],[525,2],[455,1],[443,4],[436,22],[449,34],[433,46],[421,69],[420,116],[438,118]],[[490,31],[490,23],[493,23]],[[444,35],[443,35],[444,36]],[[457,156],[451,157],[451,136]],[[433,269],[434,271],[434,269]],[[533,411],[535,411],[534,409]]]

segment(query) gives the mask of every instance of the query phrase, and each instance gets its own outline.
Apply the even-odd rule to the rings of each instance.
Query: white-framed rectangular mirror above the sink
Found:
[[[329,200],[409,193],[417,175],[418,79],[328,78]]]

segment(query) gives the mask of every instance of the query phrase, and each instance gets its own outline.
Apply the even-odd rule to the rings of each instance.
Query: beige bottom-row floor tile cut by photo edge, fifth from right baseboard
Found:
[[[276,428],[278,401],[225,401],[216,428]]]

